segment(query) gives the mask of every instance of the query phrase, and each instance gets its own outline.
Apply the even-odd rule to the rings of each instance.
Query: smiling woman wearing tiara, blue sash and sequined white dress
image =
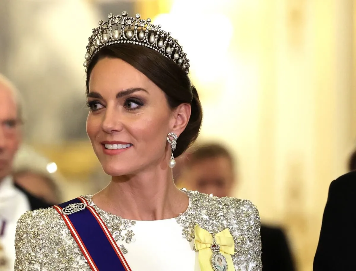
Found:
[[[173,183],[174,157],[202,120],[182,48],[139,14],[108,18],[93,29],[84,66],[87,133],[111,183],[24,214],[15,270],[216,270],[216,255],[228,271],[261,270],[260,218],[250,201]]]

